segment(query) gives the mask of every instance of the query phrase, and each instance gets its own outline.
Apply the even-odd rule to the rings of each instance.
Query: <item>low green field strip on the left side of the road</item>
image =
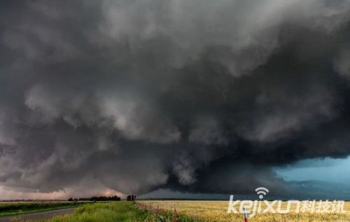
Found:
[[[78,207],[85,202],[4,202],[0,203],[0,217],[44,212],[53,209]]]

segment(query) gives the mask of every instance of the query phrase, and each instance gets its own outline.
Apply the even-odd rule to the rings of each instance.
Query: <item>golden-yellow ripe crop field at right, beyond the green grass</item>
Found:
[[[180,215],[186,215],[194,221],[203,222],[228,222],[228,221],[243,221],[241,214],[228,214],[228,201],[169,201],[169,200],[153,200],[140,201],[147,205],[148,209],[176,210]],[[283,202],[282,207],[286,207],[286,202]],[[344,204],[345,213],[289,213],[289,214],[257,214],[249,221],[266,222],[266,221],[350,221],[350,202]],[[293,207],[292,207],[292,211]]]

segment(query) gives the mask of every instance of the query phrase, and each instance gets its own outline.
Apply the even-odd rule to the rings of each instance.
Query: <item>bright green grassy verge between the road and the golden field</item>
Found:
[[[132,202],[94,203],[78,207],[72,214],[43,219],[42,222],[79,221],[118,221],[118,222],[172,222],[173,214],[167,211],[148,211],[138,209]],[[194,222],[187,216],[179,216],[179,222]]]

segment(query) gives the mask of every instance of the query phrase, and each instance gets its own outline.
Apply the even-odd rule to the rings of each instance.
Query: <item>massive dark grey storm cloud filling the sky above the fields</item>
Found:
[[[350,154],[350,1],[1,1],[0,186],[279,193]]]

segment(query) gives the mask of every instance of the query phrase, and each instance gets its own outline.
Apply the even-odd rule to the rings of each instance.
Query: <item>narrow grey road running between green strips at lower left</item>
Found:
[[[18,216],[6,216],[6,217],[1,217],[0,222],[9,222],[11,220],[15,221],[26,221],[26,220],[35,220],[35,219],[43,219],[43,218],[48,218],[52,216],[56,216],[59,214],[69,214],[74,211],[75,208],[69,208],[69,209],[55,209],[52,211],[48,212],[37,212],[33,214],[23,214],[20,216],[20,220]]]

